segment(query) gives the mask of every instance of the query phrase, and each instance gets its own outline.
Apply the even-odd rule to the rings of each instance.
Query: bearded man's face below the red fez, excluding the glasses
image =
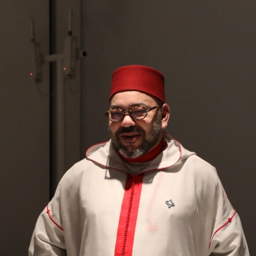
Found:
[[[149,95],[139,91],[123,91],[115,94],[110,108],[129,110],[135,106],[151,108],[158,105]],[[162,138],[162,115],[159,108],[147,113],[141,120],[133,120],[128,113],[120,122],[109,120],[109,133],[114,147],[127,158],[147,153]]]

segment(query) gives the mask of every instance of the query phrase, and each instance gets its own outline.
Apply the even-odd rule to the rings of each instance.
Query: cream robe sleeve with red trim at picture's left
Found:
[[[62,228],[59,187],[55,196],[39,215],[29,247],[29,256],[67,256]]]

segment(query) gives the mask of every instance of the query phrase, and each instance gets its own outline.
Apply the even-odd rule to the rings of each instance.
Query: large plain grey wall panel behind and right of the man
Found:
[[[167,132],[214,165],[256,251],[256,2],[82,1],[82,156],[108,139],[114,69],[166,76]]]

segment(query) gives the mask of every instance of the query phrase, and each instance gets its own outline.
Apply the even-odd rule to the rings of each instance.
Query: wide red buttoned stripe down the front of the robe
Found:
[[[142,181],[143,174],[138,176],[127,175],[117,229],[115,256],[132,256]]]

